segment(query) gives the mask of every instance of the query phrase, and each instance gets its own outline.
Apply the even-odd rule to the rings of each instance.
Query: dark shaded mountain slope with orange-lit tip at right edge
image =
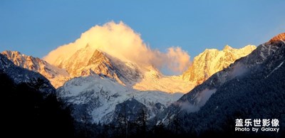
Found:
[[[199,135],[232,132],[237,118],[277,118],[284,129],[284,62],[281,33],[183,95],[157,115],[158,123]]]

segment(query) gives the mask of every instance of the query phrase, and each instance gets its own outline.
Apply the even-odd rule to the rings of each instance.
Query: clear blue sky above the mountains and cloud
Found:
[[[259,45],[285,32],[285,1],[0,1],[0,51],[43,57],[97,24],[123,21],[151,48]]]

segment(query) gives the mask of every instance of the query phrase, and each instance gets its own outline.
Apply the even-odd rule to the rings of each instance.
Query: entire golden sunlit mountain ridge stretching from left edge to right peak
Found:
[[[207,80],[209,76],[226,68],[237,58],[251,52],[255,47],[236,49],[225,46],[222,51],[206,49],[194,58],[193,64],[182,75],[167,76],[153,66],[139,66],[130,61],[114,58],[108,53],[92,48],[89,44],[78,49],[70,58],[57,60],[58,67],[39,58],[33,58],[16,51],[4,51],[4,55],[16,65],[44,75],[54,87],[60,87],[67,80],[79,76],[102,75],[112,78],[121,85],[137,90],[158,90],[164,92],[188,92]],[[242,53],[242,54],[241,54]],[[227,58],[222,58],[222,56]]]

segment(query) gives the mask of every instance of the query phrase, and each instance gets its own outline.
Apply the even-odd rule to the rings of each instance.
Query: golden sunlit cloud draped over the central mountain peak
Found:
[[[93,26],[82,33],[81,38],[75,42],[60,46],[48,53],[44,60],[57,65],[59,58],[61,60],[68,59],[87,44],[94,50],[100,49],[116,58],[130,60],[138,65],[153,65],[156,68],[167,67],[180,73],[190,65],[190,55],[180,47],[168,48],[167,53],[152,49],[142,41],[139,33],[133,31],[122,21],[119,23],[110,21],[103,26]]]

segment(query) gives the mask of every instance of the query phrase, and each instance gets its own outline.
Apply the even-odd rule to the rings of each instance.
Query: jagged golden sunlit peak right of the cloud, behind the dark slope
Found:
[[[235,60],[252,53],[255,48],[256,46],[249,45],[239,49],[225,46],[222,51],[206,49],[194,58],[192,65],[183,73],[182,78],[199,85],[214,73],[227,68]]]

